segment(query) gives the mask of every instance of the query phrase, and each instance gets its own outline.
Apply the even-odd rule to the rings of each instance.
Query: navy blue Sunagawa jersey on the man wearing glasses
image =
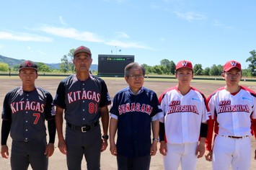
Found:
[[[115,94],[111,117],[118,119],[118,154],[138,158],[150,154],[151,121],[158,120],[160,109],[156,93],[142,87],[134,95],[129,88]]]

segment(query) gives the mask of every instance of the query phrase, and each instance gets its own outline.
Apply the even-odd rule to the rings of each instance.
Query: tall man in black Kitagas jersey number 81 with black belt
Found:
[[[107,129],[111,104],[105,81],[89,73],[92,53],[81,46],[74,50],[73,74],[58,86],[53,104],[56,105],[58,148],[66,155],[71,170],[81,169],[83,156],[87,169],[100,169],[100,153],[107,148]],[[66,120],[66,138],[63,137],[63,112]],[[103,135],[100,130],[101,117]]]

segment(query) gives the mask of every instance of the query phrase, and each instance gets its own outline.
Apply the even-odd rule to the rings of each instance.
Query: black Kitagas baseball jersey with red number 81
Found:
[[[58,85],[53,104],[65,109],[72,125],[86,125],[100,118],[100,107],[111,104],[105,81],[92,74],[86,81],[71,75]]]

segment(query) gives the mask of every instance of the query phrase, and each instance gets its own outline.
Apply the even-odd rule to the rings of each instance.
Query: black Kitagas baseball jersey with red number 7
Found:
[[[7,93],[1,117],[12,120],[12,140],[44,140],[45,120],[55,119],[52,102],[51,94],[40,87],[33,91],[23,91],[22,87],[17,87]]]

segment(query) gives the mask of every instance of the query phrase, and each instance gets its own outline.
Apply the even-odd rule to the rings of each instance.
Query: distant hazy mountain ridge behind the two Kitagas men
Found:
[[[0,63],[7,63],[9,67],[14,67],[19,65],[22,61],[25,61],[24,59],[18,60],[14,58],[8,58],[3,55],[0,55]],[[36,61],[35,61],[36,62]],[[47,66],[53,69],[59,69],[60,68],[60,63],[45,63]],[[97,64],[92,64],[91,70],[98,71],[98,65]]]

